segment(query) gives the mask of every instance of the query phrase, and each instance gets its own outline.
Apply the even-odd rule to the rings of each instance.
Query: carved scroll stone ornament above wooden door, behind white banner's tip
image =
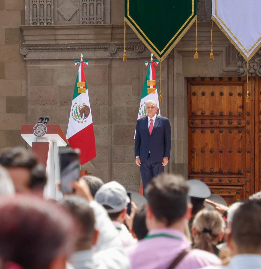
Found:
[[[236,54],[237,68],[239,76],[247,75],[247,61],[242,57],[242,55],[238,52]],[[249,76],[261,76],[261,50],[257,51],[257,53],[253,56],[249,61],[248,73]]]

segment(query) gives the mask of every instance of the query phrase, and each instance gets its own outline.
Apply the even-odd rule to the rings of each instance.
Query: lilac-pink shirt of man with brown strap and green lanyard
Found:
[[[127,249],[133,269],[166,269],[190,243],[184,233],[174,229],[156,229]],[[194,249],[187,254],[175,269],[197,269],[218,265],[221,260],[214,254]]]

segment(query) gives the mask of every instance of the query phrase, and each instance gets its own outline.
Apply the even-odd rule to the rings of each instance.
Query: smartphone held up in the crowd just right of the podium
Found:
[[[60,150],[61,192],[73,193],[72,182],[80,177],[79,150]]]

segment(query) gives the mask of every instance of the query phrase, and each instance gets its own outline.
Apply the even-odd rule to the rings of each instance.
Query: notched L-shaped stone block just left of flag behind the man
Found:
[[[112,105],[139,105],[140,97],[133,96],[132,86],[112,86]]]

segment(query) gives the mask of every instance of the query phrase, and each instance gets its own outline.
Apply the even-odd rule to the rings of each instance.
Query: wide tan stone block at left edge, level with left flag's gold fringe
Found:
[[[0,62],[0,77],[1,77]],[[21,95],[22,80],[20,79],[0,79],[0,96],[18,96]]]

